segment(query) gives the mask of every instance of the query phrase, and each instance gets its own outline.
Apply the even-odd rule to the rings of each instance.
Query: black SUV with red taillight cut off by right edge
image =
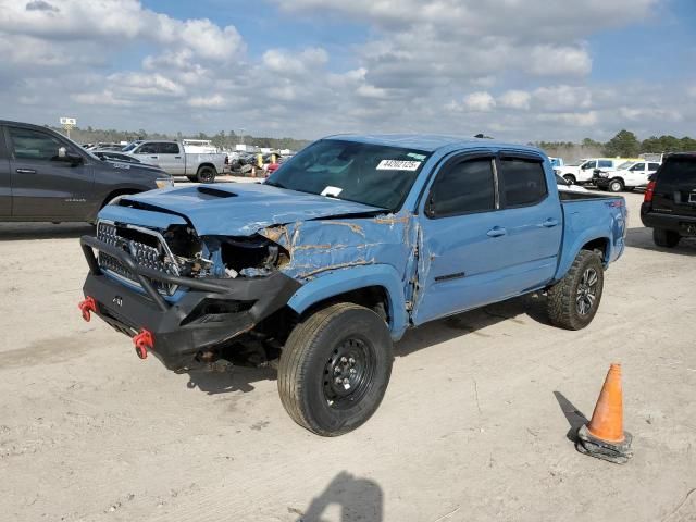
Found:
[[[696,236],[696,152],[667,157],[645,190],[641,220],[659,247]]]

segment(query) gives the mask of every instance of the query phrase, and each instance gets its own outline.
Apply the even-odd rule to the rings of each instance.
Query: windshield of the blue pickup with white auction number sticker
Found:
[[[428,158],[422,150],[324,139],[298,152],[265,183],[396,211]]]

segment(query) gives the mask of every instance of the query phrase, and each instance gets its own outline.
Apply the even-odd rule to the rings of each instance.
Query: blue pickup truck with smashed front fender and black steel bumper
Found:
[[[587,326],[625,220],[621,197],[559,192],[536,148],[334,136],[262,184],[104,207],[80,309],[175,371],[261,346],[289,415],[335,436],[377,409],[407,328],[531,293]]]

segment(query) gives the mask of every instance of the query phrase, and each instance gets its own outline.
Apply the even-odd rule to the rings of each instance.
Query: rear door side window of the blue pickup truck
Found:
[[[500,160],[498,179],[507,207],[534,204],[546,198],[546,175],[542,163],[526,159]]]

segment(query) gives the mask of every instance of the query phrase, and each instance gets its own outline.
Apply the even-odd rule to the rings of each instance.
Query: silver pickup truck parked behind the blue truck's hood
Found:
[[[186,176],[191,182],[212,183],[227,165],[225,153],[186,152],[178,141],[142,141],[126,153],[142,163],[158,165],[172,176]]]

